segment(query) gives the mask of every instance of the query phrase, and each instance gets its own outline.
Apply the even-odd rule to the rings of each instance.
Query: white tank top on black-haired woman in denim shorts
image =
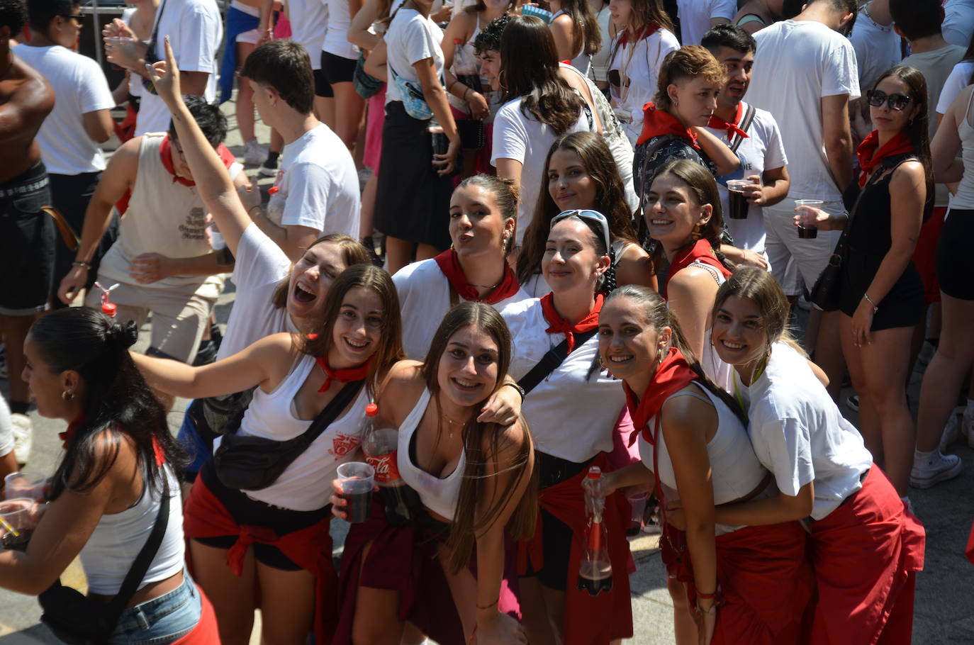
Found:
[[[166,580],[183,568],[186,542],[183,539],[179,482],[168,465],[164,469],[169,480],[169,523],[163,542],[138,588]],[[144,474],[142,481],[145,481]],[[150,490],[143,485],[142,494],[131,507],[123,512],[101,515],[92,537],[80,553],[81,566],[92,593],[115,595],[119,592],[135,556],[152,533],[162,499],[161,486],[158,490]]]

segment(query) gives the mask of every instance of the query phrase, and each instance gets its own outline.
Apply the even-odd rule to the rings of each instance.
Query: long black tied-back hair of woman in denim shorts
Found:
[[[123,435],[131,437],[139,472],[153,487],[162,480],[157,446],[173,468],[184,463],[166,410],[129,356],[138,338],[134,323],[113,323],[94,309],[69,307],[39,319],[28,336],[52,372],[74,370],[84,384],[81,420],[52,478],[50,501],[65,490],[91,490],[115,464]],[[102,459],[98,446],[104,441],[110,446]]]

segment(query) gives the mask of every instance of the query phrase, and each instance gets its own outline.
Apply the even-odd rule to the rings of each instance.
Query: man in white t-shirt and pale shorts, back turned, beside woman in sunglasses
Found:
[[[857,11],[856,0],[810,0],[794,19],[755,34],[748,98],[778,122],[791,174],[788,199],[764,209],[766,247],[771,273],[791,299],[815,285],[841,235],[820,231],[815,239],[800,239],[794,200],[821,200],[828,212],[845,209],[843,190],[852,180],[848,103],[859,96],[859,79],[855,51],[840,31]],[[815,314],[809,326],[817,323]],[[838,316],[825,315],[808,343],[836,394],[844,368],[838,334]]]

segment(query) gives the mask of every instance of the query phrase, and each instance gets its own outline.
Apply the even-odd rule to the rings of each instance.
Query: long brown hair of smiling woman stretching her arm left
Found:
[[[342,272],[335,282],[328,288],[321,309],[321,322],[318,324],[318,334],[314,338],[302,336],[298,347],[301,352],[315,357],[328,355],[334,344],[332,327],[338,319],[342,309],[345,294],[360,286],[375,291],[382,301],[382,333],[379,347],[369,363],[368,375],[365,377],[369,394],[374,398],[379,377],[401,360],[402,353],[402,319],[399,314],[399,296],[393,285],[393,279],[383,269],[372,264],[356,264]]]

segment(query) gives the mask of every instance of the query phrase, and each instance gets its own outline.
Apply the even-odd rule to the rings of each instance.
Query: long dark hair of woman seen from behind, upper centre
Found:
[[[507,22],[501,36],[504,100],[521,99],[521,112],[561,134],[578,122],[582,99],[558,73],[558,53],[551,30],[534,16]]]

